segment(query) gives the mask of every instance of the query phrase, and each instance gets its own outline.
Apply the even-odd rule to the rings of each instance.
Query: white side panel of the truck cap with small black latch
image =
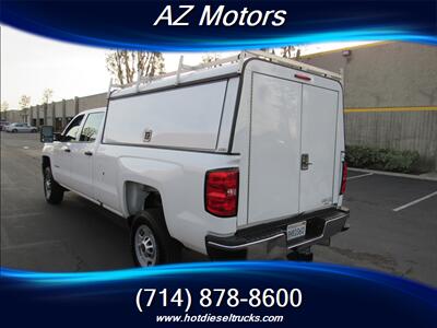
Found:
[[[111,99],[104,142],[214,150],[227,81]]]

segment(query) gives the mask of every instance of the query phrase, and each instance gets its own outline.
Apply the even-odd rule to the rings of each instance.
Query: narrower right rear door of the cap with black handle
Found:
[[[339,93],[303,85],[299,212],[332,204]]]

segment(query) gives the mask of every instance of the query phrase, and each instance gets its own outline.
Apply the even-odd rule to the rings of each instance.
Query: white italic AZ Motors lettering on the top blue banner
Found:
[[[181,4],[176,8],[170,4],[166,5],[161,12],[160,16],[153,23],[154,26],[158,24],[166,24],[168,26],[189,26],[189,16],[192,14],[196,5],[193,4]],[[285,10],[249,10],[244,8],[240,11],[226,10],[225,5],[218,5],[216,9],[212,9],[211,5],[205,5],[202,11],[202,15],[199,20],[199,26],[205,25],[221,25],[224,26],[257,26],[257,25],[272,25],[281,26],[285,23]]]

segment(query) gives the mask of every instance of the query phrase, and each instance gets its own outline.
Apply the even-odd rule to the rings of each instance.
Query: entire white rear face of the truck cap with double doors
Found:
[[[338,81],[251,60],[233,152],[241,154],[238,225],[340,207],[344,154]]]

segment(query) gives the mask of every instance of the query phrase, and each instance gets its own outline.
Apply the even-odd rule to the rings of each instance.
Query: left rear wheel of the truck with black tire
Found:
[[[135,266],[152,267],[180,259],[181,245],[169,235],[162,209],[149,209],[135,215],[130,242]]]

